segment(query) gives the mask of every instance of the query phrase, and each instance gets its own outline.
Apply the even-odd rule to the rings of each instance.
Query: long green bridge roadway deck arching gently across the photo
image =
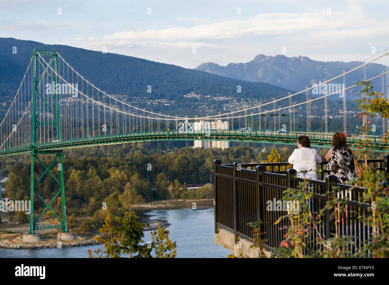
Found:
[[[202,140],[202,141],[240,141],[240,142],[261,142],[270,144],[296,144],[299,135],[308,135],[312,147],[331,148],[331,133],[308,133],[308,132],[289,132],[287,134],[264,131],[235,131],[235,130],[212,130],[210,131],[195,131],[195,132],[179,132],[174,131],[159,131],[159,132],[135,132],[127,134],[107,134],[81,139],[69,139],[56,142],[46,142],[35,144],[35,146],[20,146],[14,148],[6,148],[0,150],[0,157],[11,155],[30,154],[31,149],[35,149],[35,153],[39,154],[44,151],[57,153],[58,150],[67,150],[71,148],[85,148],[91,146],[106,146],[112,144],[124,144],[131,142],[145,141],[166,141],[166,140]],[[389,144],[377,137],[374,140],[372,135],[367,135],[366,139],[373,142],[371,149],[377,152],[388,152]],[[360,139],[348,137],[347,143],[352,149],[355,149],[359,144]]]

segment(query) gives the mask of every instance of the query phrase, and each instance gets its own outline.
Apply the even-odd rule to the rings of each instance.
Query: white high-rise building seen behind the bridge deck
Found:
[[[210,130],[228,130],[229,124],[228,121],[222,122],[221,120],[216,120],[212,122],[206,122],[200,120],[194,123],[195,132],[196,131],[210,131]],[[228,141],[195,141],[195,148],[225,148],[230,147],[230,142]]]

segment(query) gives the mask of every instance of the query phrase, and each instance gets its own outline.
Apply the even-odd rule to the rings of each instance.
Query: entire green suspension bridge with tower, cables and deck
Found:
[[[47,51],[34,50],[33,56],[23,76],[21,84],[10,102],[7,111],[0,123],[0,157],[28,154],[31,156],[31,188],[30,199],[32,210],[30,215],[29,234],[35,236],[39,229],[62,229],[67,232],[66,207],[63,179],[63,150],[72,148],[85,148],[91,146],[105,146],[112,144],[124,144],[144,141],[164,140],[203,140],[203,141],[237,141],[237,142],[261,142],[271,144],[296,144],[301,134],[311,138],[311,145],[318,147],[331,147],[332,134],[328,130],[328,120],[331,120],[327,110],[327,100],[331,95],[343,94],[343,126],[340,131],[347,132],[346,117],[347,103],[346,91],[356,93],[359,85],[351,83],[346,85],[346,76],[358,69],[364,70],[363,81],[381,80],[382,93],[386,96],[389,85],[389,70],[382,70],[381,74],[366,76],[368,65],[382,58],[388,58],[389,51],[385,50],[374,58],[363,62],[363,65],[355,69],[345,71],[342,74],[323,80],[317,86],[296,92],[268,102],[261,102],[255,106],[249,106],[225,113],[207,115],[182,116],[178,114],[163,114],[145,108],[140,108],[120,99],[117,95],[111,95],[96,87],[79,74],[65,59],[54,49]],[[329,84],[336,85],[337,80],[343,82],[341,89],[331,90]],[[335,83],[334,83],[335,82]],[[322,96],[311,98],[309,94],[314,88],[322,88]],[[357,90],[357,91],[354,91]],[[385,92],[384,92],[385,91]],[[305,95],[306,100],[295,100],[297,95]],[[362,93],[363,98],[366,94]],[[389,99],[387,97],[387,99]],[[321,131],[311,130],[312,103],[324,100],[325,127]],[[303,111],[303,107],[305,110]],[[304,113],[304,114],[302,114]],[[306,116],[307,125],[304,132],[298,129],[298,118]],[[268,122],[266,122],[268,120]],[[269,121],[270,120],[270,121]],[[283,120],[283,121],[281,121]],[[216,127],[202,127],[196,129],[196,122],[228,121],[231,129]],[[273,121],[273,131],[266,130],[269,122]],[[274,132],[281,128],[281,123],[289,131]],[[297,123],[297,128],[296,128]],[[382,129],[389,126],[389,120],[382,119]],[[211,125],[211,124],[210,124]],[[210,126],[209,125],[209,126]],[[234,130],[234,127],[248,126],[247,130]],[[205,124],[207,126],[207,124]],[[263,126],[263,127],[262,127]],[[305,127],[305,126],[304,126]],[[383,133],[385,133],[383,131]],[[378,152],[387,152],[386,141],[375,135],[368,135],[372,141],[372,149]],[[348,138],[348,143],[356,147],[359,139]],[[46,165],[42,156],[49,157],[51,163]],[[35,162],[42,164],[45,171],[35,177]],[[47,203],[37,192],[37,183],[45,174],[51,175],[58,183],[58,191]],[[34,195],[35,194],[35,195]],[[62,213],[57,215],[51,208],[51,203],[61,195]],[[42,200],[46,208],[37,218],[34,218],[34,196]],[[60,225],[39,226],[40,217],[50,210],[60,221]],[[61,218],[60,218],[61,216]],[[27,239],[36,240],[34,238]]]

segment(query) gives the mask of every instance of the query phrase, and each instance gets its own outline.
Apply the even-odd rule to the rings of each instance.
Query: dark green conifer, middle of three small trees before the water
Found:
[[[116,217],[120,226],[117,227],[117,231],[121,235],[120,245],[122,253],[132,254],[138,253],[134,258],[152,257],[151,248],[147,248],[147,245],[139,245],[142,243],[142,237],[144,237],[145,223],[138,223],[135,220],[138,218],[137,213],[129,211],[124,213],[124,218]]]

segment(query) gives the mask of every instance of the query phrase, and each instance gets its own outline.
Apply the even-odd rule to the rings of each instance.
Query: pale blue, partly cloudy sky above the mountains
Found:
[[[0,0],[0,37],[195,68],[258,54],[363,61],[389,48],[387,0]]]

